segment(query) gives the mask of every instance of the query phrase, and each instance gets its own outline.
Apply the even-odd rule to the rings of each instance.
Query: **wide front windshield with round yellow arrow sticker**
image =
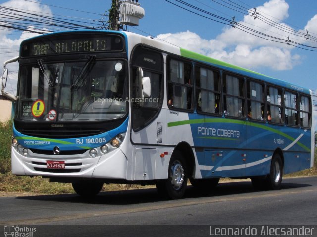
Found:
[[[97,121],[127,111],[124,60],[46,63],[20,67],[16,119],[20,121]]]

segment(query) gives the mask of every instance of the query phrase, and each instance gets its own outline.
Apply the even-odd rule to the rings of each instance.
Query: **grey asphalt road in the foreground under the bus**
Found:
[[[212,225],[317,225],[317,177],[284,179],[278,191],[256,191],[250,181],[220,183],[210,192],[190,186],[185,198],[168,201],[156,189],[102,192],[90,200],[1,197],[0,225],[35,225],[33,237],[210,236]]]

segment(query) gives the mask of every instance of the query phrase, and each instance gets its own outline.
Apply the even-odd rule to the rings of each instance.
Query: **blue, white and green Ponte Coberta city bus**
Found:
[[[84,197],[122,183],[177,199],[188,180],[276,190],[283,174],[313,166],[307,88],[123,31],[24,40],[4,63],[3,92],[13,61],[15,175],[72,183]]]

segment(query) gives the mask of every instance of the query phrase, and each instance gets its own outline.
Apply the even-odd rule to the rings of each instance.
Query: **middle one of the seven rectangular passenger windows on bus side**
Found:
[[[264,121],[264,85],[248,81],[248,119]]]

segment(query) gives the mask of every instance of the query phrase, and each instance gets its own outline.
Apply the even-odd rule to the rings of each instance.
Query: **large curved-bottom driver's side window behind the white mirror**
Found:
[[[132,55],[131,105],[134,131],[148,126],[158,116],[163,93],[161,53],[142,46],[137,47]]]

